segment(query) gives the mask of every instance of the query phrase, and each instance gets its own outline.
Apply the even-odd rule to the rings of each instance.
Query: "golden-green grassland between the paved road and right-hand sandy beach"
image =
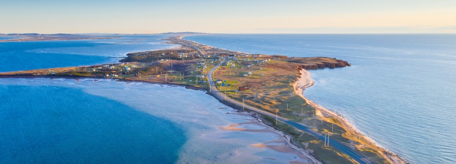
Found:
[[[315,131],[330,133],[330,137],[353,148],[371,161],[379,164],[389,163],[380,153],[380,149],[364,140],[357,140],[356,134],[343,128],[342,123],[334,117],[315,115],[315,109],[297,95],[293,83],[299,76],[299,67],[321,62],[334,62],[331,58],[285,58],[262,55],[239,57],[236,66],[222,66],[214,73],[214,79],[222,79],[230,86],[217,84],[219,90],[226,91],[229,98],[259,109],[277,113],[277,115],[302,122]],[[244,60],[245,59],[245,60]],[[265,61],[266,59],[269,59]],[[259,62],[264,61],[264,62]],[[326,68],[327,69],[327,68]],[[250,72],[250,75],[244,76]],[[262,74],[262,75],[261,75]],[[239,91],[239,87],[248,87],[248,90]],[[269,117],[266,120],[272,122]],[[275,121],[273,121],[275,123]],[[355,163],[348,156],[334,148],[325,148],[323,143],[315,137],[294,129],[284,123],[277,128],[291,134],[295,141],[303,148],[312,149],[314,154],[322,160],[332,164]],[[358,141],[355,144],[355,141]]]

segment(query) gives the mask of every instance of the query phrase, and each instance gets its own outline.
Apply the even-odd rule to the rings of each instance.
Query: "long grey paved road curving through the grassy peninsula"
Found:
[[[223,61],[225,61],[225,59]],[[215,95],[219,99],[225,99],[226,98],[226,100],[229,101],[230,103],[236,104],[236,105],[238,105],[240,107],[243,107],[245,109],[261,113],[262,115],[267,115],[267,116],[276,118],[276,114],[272,114],[272,113],[260,110],[258,108],[255,108],[255,107],[244,105],[244,103],[242,103],[242,102],[239,102],[239,101],[236,101],[234,99],[225,97],[225,94],[220,92],[217,89],[217,87],[215,87],[215,82],[212,79],[212,74],[213,74],[214,70],[217,69],[221,64],[222,63],[220,62],[219,64],[214,66],[211,69],[211,71],[209,71],[208,76],[207,76],[208,77],[209,86],[211,87],[211,91],[212,91],[213,95]],[[317,137],[318,139],[320,139],[322,141],[325,140],[325,135],[324,134],[321,134],[321,133],[319,133],[317,131],[314,131],[313,129],[309,128],[308,126],[306,126],[304,124],[291,121],[291,120],[289,120],[289,119],[287,119],[285,117],[281,117],[281,116],[277,116],[277,120],[279,120],[279,121],[281,121],[283,123],[286,123],[288,125],[291,125],[294,128],[299,129],[301,131],[305,131],[305,132]],[[341,150],[343,153],[347,154],[348,156],[352,157],[353,159],[355,159],[360,164],[373,164],[373,162],[369,161],[368,159],[366,159],[362,155],[357,154],[352,149],[347,148],[347,147],[343,146],[341,143],[331,139],[331,137],[329,137],[329,144],[332,145],[334,148],[337,148],[337,149]]]

